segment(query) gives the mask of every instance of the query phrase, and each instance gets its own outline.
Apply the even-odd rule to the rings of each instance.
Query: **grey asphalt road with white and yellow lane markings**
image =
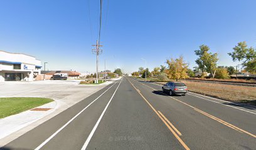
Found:
[[[124,77],[0,149],[256,149],[256,110]]]

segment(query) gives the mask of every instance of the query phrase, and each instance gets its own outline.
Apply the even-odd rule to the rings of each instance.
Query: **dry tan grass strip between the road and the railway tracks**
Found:
[[[198,83],[182,81],[188,86],[188,90],[195,93],[213,96],[228,101],[238,101],[256,105],[256,87],[236,86],[218,83]],[[165,84],[166,82],[161,82]]]

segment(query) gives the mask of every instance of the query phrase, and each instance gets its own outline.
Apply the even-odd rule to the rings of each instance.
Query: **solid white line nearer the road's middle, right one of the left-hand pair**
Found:
[[[121,83],[121,82],[122,82],[122,80],[120,81],[120,83]],[[119,83],[119,85],[117,86],[117,89],[119,88],[120,83]],[[115,92],[117,91],[117,89],[115,89]],[[95,124],[95,126],[94,126],[93,129],[92,129],[92,131],[90,132],[90,134],[89,134],[88,138],[86,139],[85,144],[83,144],[83,147],[82,147],[81,150],[85,150],[85,149],[87,148],[87,146],[88,146],[88,144],[89,144],[89,142],[90,142],[90,139],[92,139],[92,136],[93,136],[94,132],[96,131],[96,129],[97,129],[97,127],[99,126],[99,123],[100,123],[102,117],[103,117],[104,114],[105,114],[105,111],[107,110],[107,108],[109,107],[110,102],[111,102],[112,99],[114,98],[115,92],[114,92],[114,94],[112,95],[112,97],[110,98],[109,103],[107,103],[107,106],[105,107],[104,111],[102,111],[102,114],[100,115],[100,118],[98,119],[97,123]]]

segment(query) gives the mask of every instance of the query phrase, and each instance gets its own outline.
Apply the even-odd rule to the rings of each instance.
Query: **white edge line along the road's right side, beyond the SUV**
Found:
[[[136,80],[134,79],[134,81],[136,81]],[[138,82],[138,81],[137,81],[137,82]],[[155,84],[155,85],[157,85],[157,86],[161,86],[161,85],[159,85],[159,84],[157,84],[157,83],[151,83],[151,84]],[[189,93],[191,93],[191,92],[189,92]],[[193,94],[197,94],[197,93],[193,93]],[[189,94],[189,95],[195,96],[195,95],[193,95],[193,94]],[[204,96],[204,95],[202,95],[202,94],[198,94],[198,95]],[[235,107],[235,106],[230,106],[230,105],[227,105],[227,104],[223,104],[223,103],[220,103],[220,102],[217,102],[217,101],[213,101],[213,100],[210,100],[210,99],[202,98],[202,97],[200,97],[200,96],[195,96],[195,97],[201,98],[201,99],[205,99],[206,101],[211,101],[211,102],[213,102],[213,103],[222,104],[222,105],[228,106],[228,107],[230,107],[230,108],[235,108],[235,109],[238,109],[238,110],[240,110],[240,111],[245,111],[245,112],[247,112],[247,113],[256,114],[256,113],[253,113],[252,111],[247,111],[247,110],[245,110],[245,109],[240,109],[240,108],[237,108],[237,107]],[[205,96],[205,97],[211,98],[210,96]],[[211,98],[211,99],[216,99],[216,100],[218,100],[218,101],[223,101],[224,103],[235,104],[235,103],[232,103],[232,102],[229,102],[229,101],[224,101],[224,100],[222,100],[222,99],[217,99],[217,98]]]

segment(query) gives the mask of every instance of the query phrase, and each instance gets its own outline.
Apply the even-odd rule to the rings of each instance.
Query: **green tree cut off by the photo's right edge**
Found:
[[[233,61],[242,61],[242,66],[250,73],[256,73],[256,50],[253,47],[247,47],[245,41],[238,42],[237,46],[233,47],[233,52],[228,53]]]

